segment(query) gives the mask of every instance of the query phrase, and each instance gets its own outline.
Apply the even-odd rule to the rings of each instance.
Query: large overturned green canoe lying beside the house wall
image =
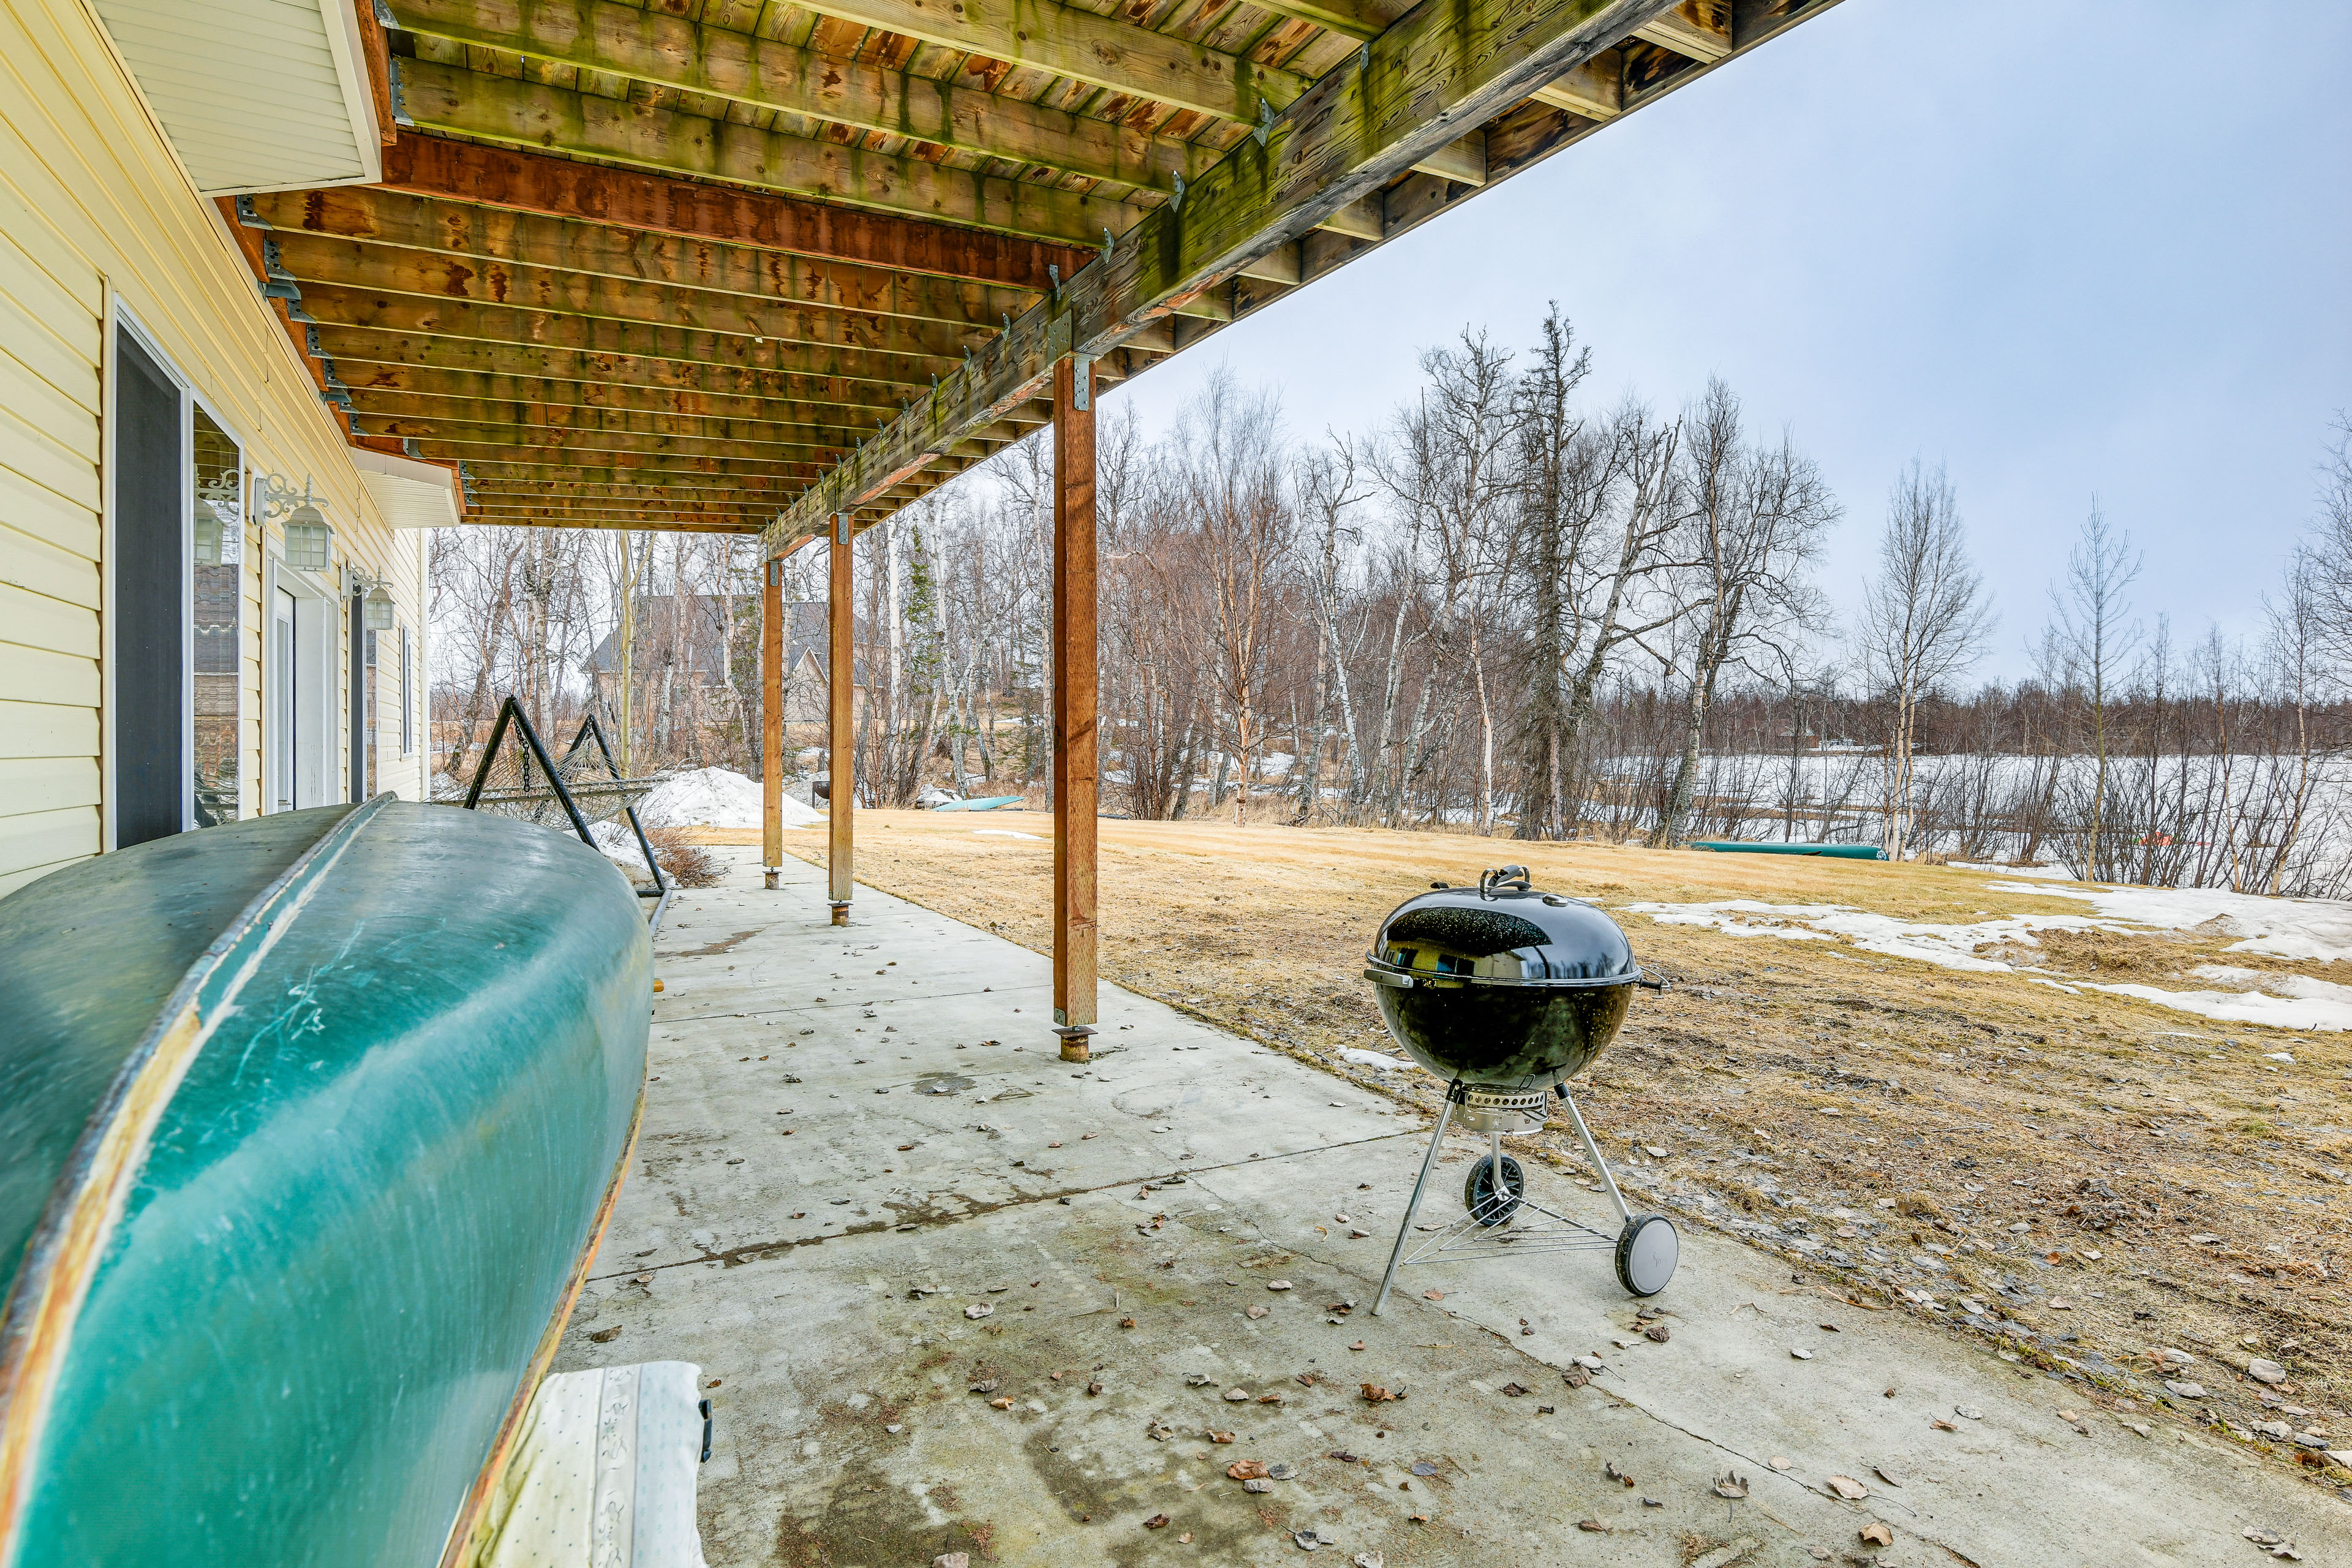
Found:
[[[612,1213],[652,938],[379,797],[0,898],[0,1568],[456,1561]]]

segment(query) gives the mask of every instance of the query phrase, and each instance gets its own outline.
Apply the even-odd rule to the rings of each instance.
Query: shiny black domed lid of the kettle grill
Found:
[[[1367,954],[1374,971],[1463,985],[1630,985],[1642,978],[1625,931],[1581,898],[1529,884],[1524,865],[1475,889],[1406,898]]]

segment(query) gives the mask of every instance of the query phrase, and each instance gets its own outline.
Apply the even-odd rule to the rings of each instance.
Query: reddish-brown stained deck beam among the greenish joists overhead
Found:
[[[1075,277],[1094,256],[1084,247],[1016,240],[976,228],[901,219],[828,202],[804,202],[769,190],[736,190],[637,169],[612,169],[572,158],[492,148],[442,136],[402,136],[383,155],[383,183],[416,195],[534,212],[548,219],[612,223],[682,240],[717,240],[830,256],[866,266],[971,277],[1042,294],[1051,273]]]

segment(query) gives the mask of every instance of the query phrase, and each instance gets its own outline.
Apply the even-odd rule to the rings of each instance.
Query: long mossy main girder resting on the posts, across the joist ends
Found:
[[[828,473],[769,529],[769,550],[920,473],[967,430],[1033,397],[1065,353],[1115,348],[1167,315],[1174,299],[1216,287],[1355,202],[1378,200],[1388,181],[1465,127],[1503,115],[1665,9],[1670,0],[1416,7],[1277,115],[1263,146],[1240,141],[1181,207],[1155,209],[1058,301],[1016,320],[974,367]]]

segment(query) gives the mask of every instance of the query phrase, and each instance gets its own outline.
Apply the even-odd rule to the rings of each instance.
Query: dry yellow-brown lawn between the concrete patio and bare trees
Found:
[[[1040,837],[861,813],[858,879],[1044,950],[1051,823],[985,825]],[[1425,1074],[1383,1079],[1338,1051],[1390,1048],[1362,952],[1395,900],[1439,877],[1519,860],[1541,886],[1604,905],[1757,898],[1943,924],[2082,914],[1957,867],[1221,823],[1105,820],[1101,837],[1103,978],[1430,1107]],[[788,844],[823,858],[816,832]],[[2352,1434],[2352,1039],[2216,1025],[1837,940],[1621,919],[1677,990],[1635,1004],[1583,1088],[1611,1147],[1670,1152],[1642,1161],[1665,1206],[1863,1300],[1915,1309],[1900,1291],[1973,1293],[2044,1335],[2030,1359],[2070,1356],[2110,1389],[2117,1373],[2154,1387],[2145,1352],[2185,1349],[2213,1389],[2204,1408],[2241,1427],[2274,1415],[2227,1371],[2260,1354],[2291,1373],[2270,1399],[2307,1410],[2286,1420]],[[2100,983],[2161,985],[2206,961],[2328,973],[2251,961],[2227,940],[2042,933],[2025,952]],[[2263,1060],[2279,1048],[2296,1065]],[[1581,1168],[1559,1131],[1534,1143]],[[1922,1255],[1943,1267],[1917,1267]]]

